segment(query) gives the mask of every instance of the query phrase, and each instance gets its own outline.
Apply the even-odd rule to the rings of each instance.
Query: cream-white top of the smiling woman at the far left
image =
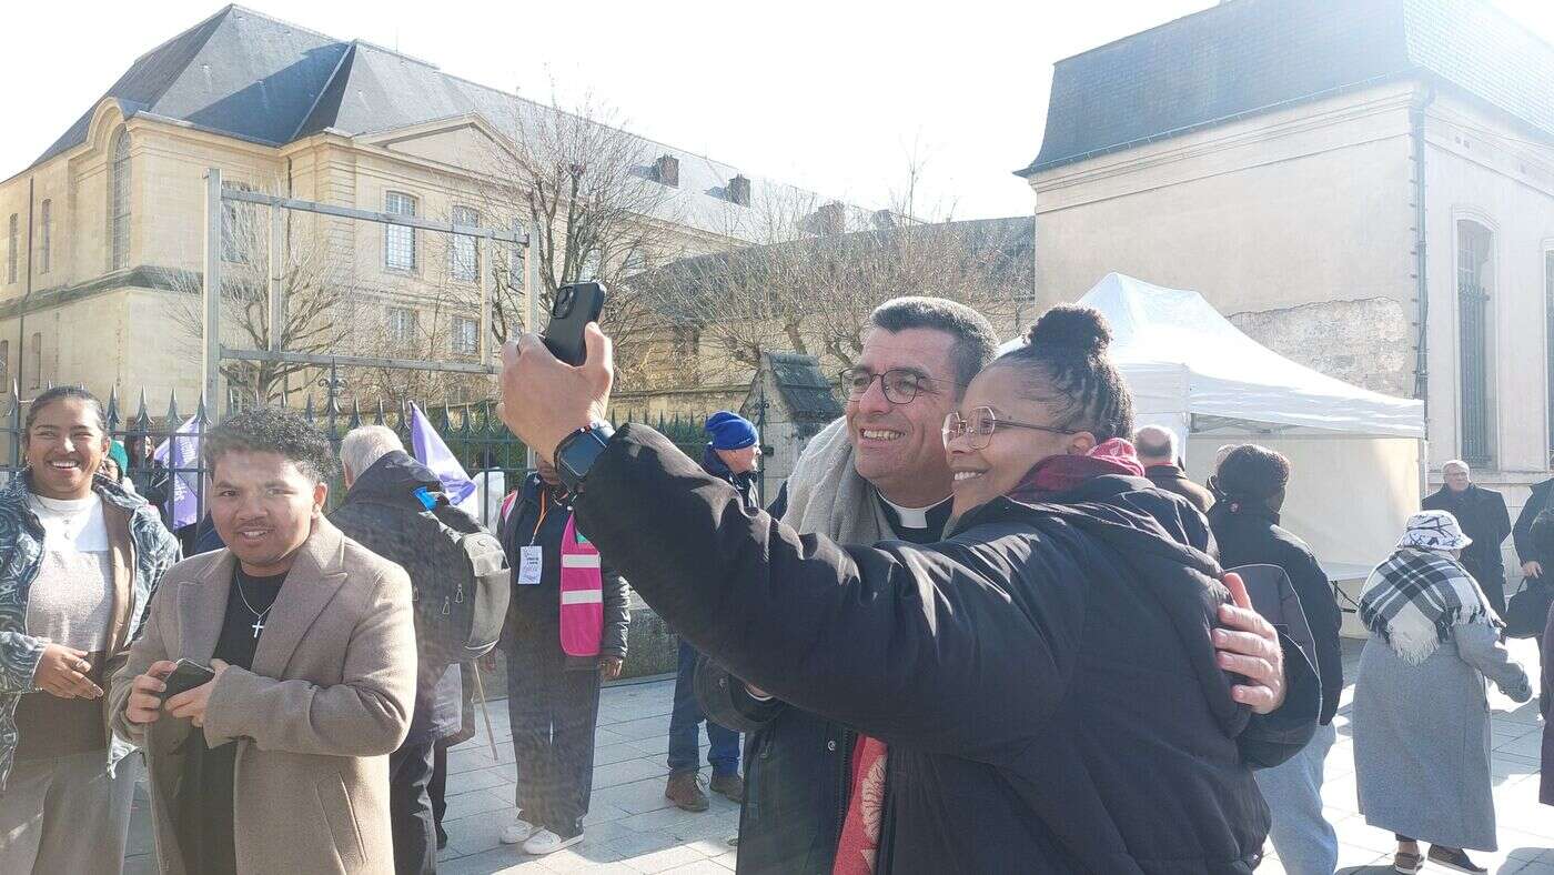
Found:
[[[103,499],[28,494],[44,524],[44,558],[28,591],[26,631],[89,653],[107,645],[113,619],[113,567]]]

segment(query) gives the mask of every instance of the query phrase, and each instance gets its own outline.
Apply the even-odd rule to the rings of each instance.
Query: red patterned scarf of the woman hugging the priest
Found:
[[[1024,480],[1010,490],[1009,497],[1041,502],[1103,474],[1144,476],[1144,466],[1139,465],[1131,443],[1111,438],[1086,455],[1049,455],[1030,468]],[[842,835],[836,842],[831,875],[872,875],[875,870],[884,807],[884,741],[867,735],[858,737],[847,819],[842,821]]]

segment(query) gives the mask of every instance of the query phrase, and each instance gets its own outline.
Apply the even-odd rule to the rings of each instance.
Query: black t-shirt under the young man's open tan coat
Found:
[[[221,623],[221,637],[216,639],[214,659],[253,668],[253,653],[264,634],[263,620],[269,620],[270,606],[283,583],[284,573],[249,577],[238,567],[227,592],[227,614]],[[232,808],[238,743],[207,748],[205,734],[194,729],[185,741],[183,754],[185,793],[180,794],[177,819],[183,867],[202,875],[235,875],[238,852],[233,844]]]

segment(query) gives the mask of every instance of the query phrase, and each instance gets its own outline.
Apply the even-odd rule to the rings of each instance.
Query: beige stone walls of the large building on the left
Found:
[[[131,137],[129,269],[112,270],[109,155],[120,127]],[[480,169],[490,166],[493,148],[491,132],[479,120],[354,140],[325,132],[267,148],[148,117],[126,123],[117,103],[106,99],[85,143],[0,182],[5,375],[14,376],[26,354],[23,398],[33,393],[34,382],[82,382],[104,396],[115,389],[138,396],[145,387],[152,415],[165,412],[169,395],[177,392],[180,409],[191,410],[200,390],[200,347],[177,319],[177,311],[190,308],[188,295],[149,288],[154,283],[137,269],[202,269],[207,168],[221,168],[224,180],[249,188],[375,211],[384,210],[388,191],[402,191],[416,199],[418,216],[446,221],[454,207],[474,207],[482,222],[507,225],[485,202],[490,185]],[[44,272],[37,261],[42,241],[34,233],[28,295],[26,230],[31,224],[39,232],[36,205],[45,199],[51,202],[50,266]],[[12,213],[19,216],[20,249],[14,283],[5,272],[5,233]],[[267,222],[264,210],[253,213]],[[342,351],[382,354],[392,345],[388,308],[401,306],[416,309],[421,326],[437,326],[432,348],[423,350],[427,357],[469,359],[452,351],[451,320],[479,317],[479,283],[451,277],[446,235],[416,230],[416,269],[399,272],[385,267],[384,225],[294,213],[289,227],[292,239],[314,238],[326,246],[339,278],[351,289],[351,336],[357,347]],[[668,225],[668,232],[671,250],[657,253],[664,258],[735,242],[690,225]],[[263,239],[264,232],[260,235]],[[482,242],[482,267],[493,256],[507,258],[505,247]],[[263,258],[258,253],[258,261]],[[34,368],[34,334],[42,340],[40,373]]]

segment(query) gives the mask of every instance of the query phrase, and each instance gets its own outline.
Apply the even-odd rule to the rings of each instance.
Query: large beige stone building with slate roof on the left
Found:
[[[191,407],[200,348],[179,312],[197,312],[186,280],[197,289],[207,168],[295,199],[508,228],[527,211],[491,202],[488,159],[555,112],[367,42],[227,6],[137,59],[37,162],[0,182],[0,375],[19,379],[23,398],[81,382],[104,396],[145,389],[152,409],[177,392]],[[634,143],[643,166],[631,171],[665,190],[662,211],[637,218],[664,232],[662,252],[643,260],[738,246],[738,214],[791,191]],[[342,353],[382,354],[413,328],[432,340],[399,357],[476,361],[468,329],[479,288],[455,269],[446,235],[306,214],[289,216],[286,233],[289,246],[325,247],[331,277],[350,289]],[[511,253],[480,242],[476,258]]]

